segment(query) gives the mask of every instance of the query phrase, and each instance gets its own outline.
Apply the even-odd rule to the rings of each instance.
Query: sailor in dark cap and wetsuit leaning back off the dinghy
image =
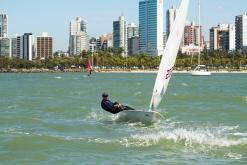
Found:
[[[107,111],[107,112],[110,112],[112,114],[117,114],[121,111],[124,111],[124,110],[135,110],[134,108],[131,108],[129,106],[125,106],[125,105],[122,105],[118,102],[111,102],[109,99],[108,99],[108,94],[107,93],[103,93],[102,94],[102,101],[101,101],[101,107]]]

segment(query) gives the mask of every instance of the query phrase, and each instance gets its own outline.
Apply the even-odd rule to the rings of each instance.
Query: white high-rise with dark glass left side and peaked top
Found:
[[[124,16],[113,22],[113,48],[122,48],[122,56],[128,53],[127,26]]]

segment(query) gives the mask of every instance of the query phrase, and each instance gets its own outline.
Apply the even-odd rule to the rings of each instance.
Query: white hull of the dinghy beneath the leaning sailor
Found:
[[[157,122],[161,118],[163,118],[163,116],[156,111],[125,110],[117,114],[116,121],[152,124]]]

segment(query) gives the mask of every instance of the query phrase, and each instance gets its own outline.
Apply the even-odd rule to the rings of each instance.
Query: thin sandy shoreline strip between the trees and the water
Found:
[[[247,73],[247,70],[209,70],[213,74],[217,73]],[[96,70],[96,73],[157,73],[158,70],[130,70],[130,69],[101,69]],[[0,69],[0,73],[87,73],[85,69],[64,69],[52,70],[52,69]],[[173,73],[185,73],[189,74],[191,71],[188,70],[174,70]]]

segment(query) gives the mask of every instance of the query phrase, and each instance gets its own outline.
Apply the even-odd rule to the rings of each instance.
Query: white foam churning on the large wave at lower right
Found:
[[[134,134],[131,137],[134,143],[144,146],[158,144],[163,140],[173,141],[174,143],[183,143],[185,146],[190,147],[198,144],[203,147],[230,147],[247,144],[247,138],[229,137],[227,134],[222,133],[225,129],[226,128],[223,128],[223,130],[221,130],[221,128],[215,130],[173,128],[153,133]]]

